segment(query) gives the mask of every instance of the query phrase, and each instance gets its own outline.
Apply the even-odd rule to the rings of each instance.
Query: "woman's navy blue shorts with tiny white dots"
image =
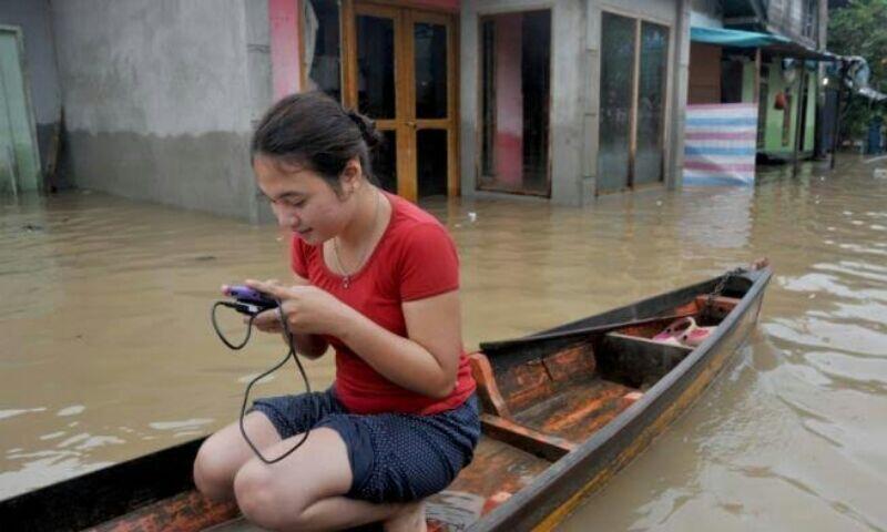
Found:
[[[348,413],[333,391],[257,399],[281,438],[328,427],[348,448],[354,478],[346,493],[369,502],[408,502],[432,495],[471,462],[480,439],[477,396],[431,416]],[[298,451],[296,451],[298,452]]]

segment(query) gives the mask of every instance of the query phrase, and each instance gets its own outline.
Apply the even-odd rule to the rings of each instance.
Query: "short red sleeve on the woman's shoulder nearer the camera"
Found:
[[[441,225],[421,224],[410,229],[400,264],[400,299],[404,301],[459,288],[459,255]]]

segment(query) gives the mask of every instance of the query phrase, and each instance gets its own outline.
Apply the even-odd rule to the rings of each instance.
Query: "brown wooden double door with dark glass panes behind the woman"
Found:
[[[411,201],[457,195],[453,17],[344,2],[343,21],[344,103],[373,119],[385,136],[376,177]]]

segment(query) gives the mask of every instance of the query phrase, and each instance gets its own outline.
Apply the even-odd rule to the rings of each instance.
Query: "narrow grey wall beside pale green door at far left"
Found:
[[[24,61],[37,122],[41,166],[47,166],[49,141],[61,112],[49,0],[0,0],[0,24],[17,25],[24,34]]]

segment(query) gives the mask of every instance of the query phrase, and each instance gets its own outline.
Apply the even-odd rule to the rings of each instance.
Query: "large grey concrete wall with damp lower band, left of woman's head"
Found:
[[[258,221],[267,0],[53,0],[78,186]]]

